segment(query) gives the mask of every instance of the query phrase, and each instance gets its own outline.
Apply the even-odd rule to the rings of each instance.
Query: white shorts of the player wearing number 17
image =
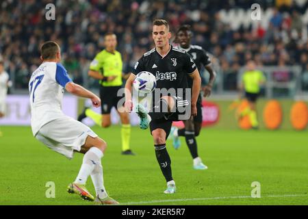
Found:
[[[43,125],[36,134],[36,139],[49,149],[72,159],[74,151],[80,151],[88,136],[96,138],[97,134],[83,123],[67,116]]]

